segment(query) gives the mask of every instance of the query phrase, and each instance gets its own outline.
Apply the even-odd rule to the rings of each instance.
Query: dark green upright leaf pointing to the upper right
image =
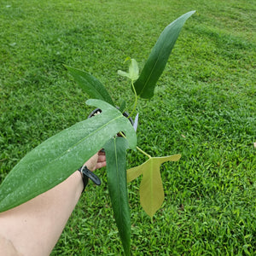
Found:
[[[176,43],[179,32],[185,21],[194,13],[195,11],[191,11],[180,16],[177,20],[174,20],[170,25],[166,26],[164,31],[160,34],[160,38],[158,38],[156,44],[154,44],[154,48],[148,56],[148,60],[143,67],[140,77],[134,84],[138,96],[143,98],[154,96],[155,84],[166,67],[166,62]]]

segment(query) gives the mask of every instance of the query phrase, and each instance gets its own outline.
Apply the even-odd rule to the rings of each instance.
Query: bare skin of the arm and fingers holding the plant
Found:
[[[91,171],[106,166],[99,152],[85,164]],[[84,184],[80,172],[30,201],[0,213],[1,255],[49,255],[79,201]]]

